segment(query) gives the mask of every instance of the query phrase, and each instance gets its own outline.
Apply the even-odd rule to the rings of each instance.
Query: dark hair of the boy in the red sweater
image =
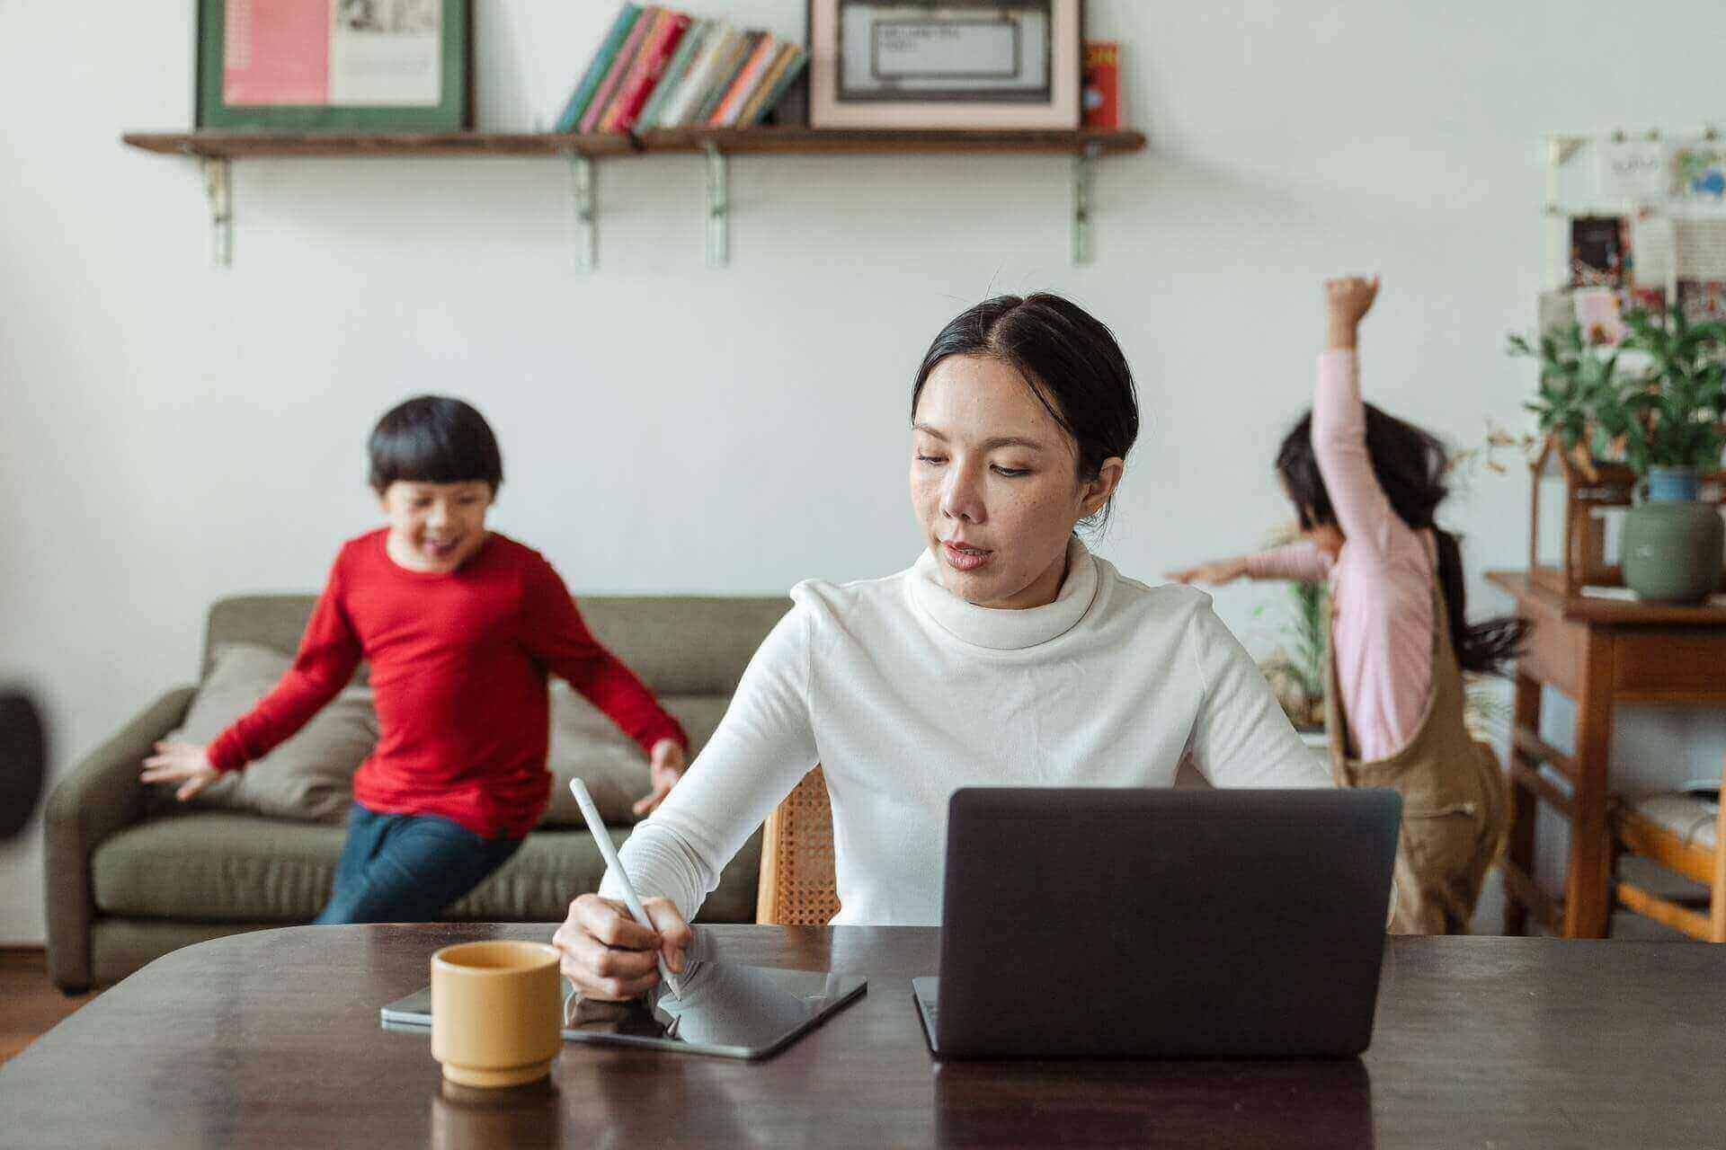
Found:
[[[385,412],[371,429],[371,486],[378,495],[395,481],[482,481],[497,493],[504,457],[485,416],[447,395],[418,395]]]

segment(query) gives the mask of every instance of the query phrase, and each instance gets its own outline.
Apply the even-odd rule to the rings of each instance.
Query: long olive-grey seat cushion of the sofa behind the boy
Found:
[[[91,859],[97,909],[105,916],[202,922],[306,922],[335,883],[345,828],[186,812],[119,831]],[[613,831],[613,841],[628,829]],[[754,919],[759,833],[737,853],[701,909],[706,922]],[[599,886],[604,860],[582,831],[535,831],[497,874],[457,902],[447,919],[557,922],[570,900]]]

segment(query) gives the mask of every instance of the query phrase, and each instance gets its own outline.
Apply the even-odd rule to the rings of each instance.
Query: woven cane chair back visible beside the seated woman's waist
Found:
[[[827,926],[835,914],[834,807],[827,779],[815,767],[766,817],[756,922]]]

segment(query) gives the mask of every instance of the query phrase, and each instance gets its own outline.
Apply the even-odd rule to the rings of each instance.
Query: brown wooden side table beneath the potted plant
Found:
[[[1515,671],[1510,731],[1512,831],[1503,864],[1505,933],[1522,934],[1533,910],[1564,938],[1605,938],[1612,910],[1607,760],[1617,703],[1726,707],[1726,605],[1671,607],[1564,595],[1526,571],[1491,571],[1533,624]],[[1576,753],[1540,738],[1540,688],[1576,700]],[[1571,793],[1540,774],[1557,769]],[[1534,816],[1546,802],[1571,824],[1564,902],[1534,881]]]

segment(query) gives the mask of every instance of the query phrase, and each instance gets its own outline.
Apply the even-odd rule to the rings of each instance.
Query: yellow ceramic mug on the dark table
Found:
[[[557,952],[485,941],[432,955],[432,1057],[461,1086],[521,1086],[563,1048]]]

